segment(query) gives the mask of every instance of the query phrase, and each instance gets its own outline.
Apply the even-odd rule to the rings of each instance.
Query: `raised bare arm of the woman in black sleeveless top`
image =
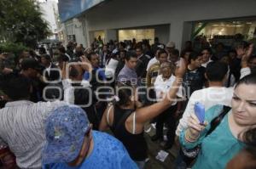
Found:
[[[183,60],[181,65],[177,67],[176,70],[176,80],[172,83],[172,88],[169,90],[168,93],[166,93],[166,96],[164,99],[162,99],[160,102],[156,104],[152,104],[147,107],[143,107],[141,109],[136,110],[136,121],[137,123],[144,124],[150,119],[154,118],[157,115],[160,115],[164,110],[166,110],[168,107],[171,106],[172,101],[176,99],[176,93],[178,90],[178,87],[181,85],[183,74],[186,70],[186,63]]]

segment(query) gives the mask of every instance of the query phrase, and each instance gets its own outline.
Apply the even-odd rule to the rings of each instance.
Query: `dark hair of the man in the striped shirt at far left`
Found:
[[[28,99],[30,95],[31,80],[20,74],[0,76],[0,88],[9,99],[13,101]]]

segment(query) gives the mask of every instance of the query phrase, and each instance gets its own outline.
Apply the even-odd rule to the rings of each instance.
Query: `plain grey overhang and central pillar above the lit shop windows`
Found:
[[[255,0],[112,0],[84,16],[88,31],[169,24],[169,41],[181,48],[189,40],[188,21],[256,16],[255,7]]]

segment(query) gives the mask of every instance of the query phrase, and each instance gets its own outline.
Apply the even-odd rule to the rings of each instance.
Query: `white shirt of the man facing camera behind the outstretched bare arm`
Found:
[[[164,96],[162,96],[161,93],[168,93],[170,88],[172,87],[172,83],[175,81],[176,77],[171,76],[169,79],[166,81],[163,80],[163,76],[159,75],[156,77],[155,82],[154,82],[154,91],[156,94],[156,99],[163,99]],[[183,97],[183,90],[182,86],[178,88],[178,91],[176,93],[177,97],[182,98]],[[177,102],[173,102],[172,105],[177,104]]]

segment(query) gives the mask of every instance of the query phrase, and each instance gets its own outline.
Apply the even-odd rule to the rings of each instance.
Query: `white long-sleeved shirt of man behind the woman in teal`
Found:
[[[176,135],[179,136],[180,132],[188,127],[188,119],[189,116],[195,112],[194,106],[196,102],[200,102],[201,104],[205,105],[206,111],[216,104],[231,106],[233,92],[233,87],[207,87],[201,90],[196,90],[194,93],[192,93],[187,107],[183,112],[183,117],[178,123]]]

